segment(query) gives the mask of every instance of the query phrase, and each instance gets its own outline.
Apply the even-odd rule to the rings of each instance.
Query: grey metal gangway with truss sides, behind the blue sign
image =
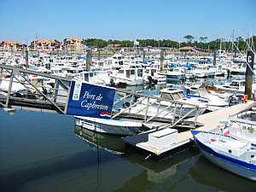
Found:
[[[0,107],[66,114],[72,82],[73,79],[0,64]],[[26,94],[22,95],[23,92]],[[169,104],[160,108],[161,102]],[[135,113],[133,109],[138,105],[141,108]],[[158,106],[154,113],[153,105]],[[184,106],[188,105],[191,110],[184,113]],[[111,119],[136,119],[149,127],[157,123],[195,128],[198,112],[197,105],[116,89]],[[195,113],[195,120],[186,120],[191,113]],[[167,114],[172,118],[166,118]]]

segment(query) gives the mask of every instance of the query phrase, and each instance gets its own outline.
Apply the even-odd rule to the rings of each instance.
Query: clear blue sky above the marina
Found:
[[[0,0],[0,41],[151,38],[185,42],[256,34],[256,0]]]

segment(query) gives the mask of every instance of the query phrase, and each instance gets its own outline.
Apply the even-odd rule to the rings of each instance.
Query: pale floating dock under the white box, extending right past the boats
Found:
[[[212,129],[215,129],[218,127],[218,125],[221,125],[220,121],[228,121],[229,116],[231,114],[234,114],[238,111],[240,111],[242,108],[245,108],[247,105],[251,104],[252,102],[246,102],[241,103],[238,105],[231,106],[229,108],[222,108],[217,111],[211,112],[211,113],[205,113],[197,117],[197,122],[202,124],[202,126],[195,128],[197,131],[211,131]],[[190,121],[193,121],[194,118],[188,119]],[[166,128],[168,129],[168,128]],[[182,147],[184,144],[190,143],[193,141],[193,136],[190,131],[183,131],[178,133],[177,136],[177,143],[172,143],[166,148],[153,148],[148,143],[148,134],[160,131],[161,129],[154,129],[150,131],[146,131],[143,133],[140,133],[136,136],[129,136],[125,137],[123,141],[127,144],[130,144],[132,146],[135,146],[137,148],[144,149],[150,153],[160,155],[164,154],[166,152],[171,151],[174,148]]]

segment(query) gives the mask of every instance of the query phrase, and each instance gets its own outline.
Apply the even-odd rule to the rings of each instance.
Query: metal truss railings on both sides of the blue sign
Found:
[[[6,95],[0,95],[0,107],[15,108],[15,109],[29,109],[49,113],[62,113],[67,111],[67,98],[71,87],[72,79],[63,78],[49,73],[40,73],[33,70],[23,69],[21,67],[12,67],[0,64],[0,79],[3,79],[3,74],[9,75],[9,84],[6,89]],[[52,92],[47,93],[42,90],[42,84],[33,84],[28,77],[40,76],[45,79],[50,79],[54,82]],[[32,96],[15,97],[12,94],[12,86],[14,84],[21,84]],[[0,92],[1,92],[0,88]],[[164,123],[166,126],[184,125],[190,128],[195,128],[197,124],[197,115],[199,113],[199,106],[189,104],[187,102],[179,102],[169,99],[160,98],[158,96],[148,96],[143,93],[133,92],[130,90],[116,89],[119,98],[116,98],[113,106],[129,101],[130,105],[122,108],[117,112],[113,112],[111,119],[118,119],[120,116],[128,116],[131,119],[140,118],[144,123],[158,121]],[[146,104],[145,104],[146,103]],[[143,104],[143,108],[138,113],[131,113],[132,108],[138,104]],[[152,111],[152,107],[157,106]],[[189,108],[188,108],[189,107]],[[186,110],[185,110],[186,109]],[[189,109],[189,110],[188,110]],[[143,115],[142,115],[143,113]],[[189,115],[195,113],[195,120],[193,122],[186,121]],[[166,118],[165,114],[170,114],[173,118]]]

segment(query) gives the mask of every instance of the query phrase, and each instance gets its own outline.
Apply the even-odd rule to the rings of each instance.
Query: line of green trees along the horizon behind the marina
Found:
[[[236,47],[239,50],[246,50],[247,49],[247,42],[251,41],[250,39],[243,39],[241,37],[238,37],[234,39],[233,45],[231,41],[225,41],[224,38],[217,38],[216,40],[207,42],[207,37],[200,37],[199,41],[194,40],[195,38],[191,35],[186,35],[183,37],[186,41],[179,43],[176,41],[172,41],[170,39],[162,39],[162,40],[155,40],[155,39],[137,39],[137,42],[139,42],[140,47],[166,47],[166,48],[173,48],[178,49],[184,46],[193,46],[198,49],[222,49],[235,50]],[[119,46],[119,47],[133,47],[134,42],[131,40],[112,40],[109,39],[108,41],[103,39],[97,39],[97,38],[87,38],[84,39],[87,46],[90,48],[104,48],[107,47],[109,44],[113,44],[113,46]],[[235,45],[234,45],[235,44]],[[253,36],[253,45],[254,48],[256,47],[256,36]]]

